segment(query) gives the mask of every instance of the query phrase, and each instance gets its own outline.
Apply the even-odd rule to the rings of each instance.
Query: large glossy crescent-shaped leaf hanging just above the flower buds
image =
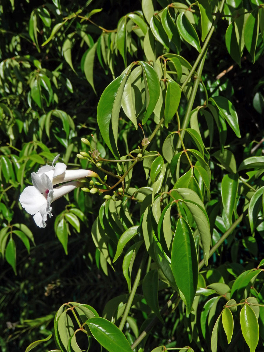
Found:
[[[126,77],[126,74],[121,75],[106,87],[101,95],[97,107],[97,122],[101,135],[116,159],[120,159],[120,155],[114,140],[111,117],[115,97],[117,96],[121,83],[124,79],[126,79]]]

